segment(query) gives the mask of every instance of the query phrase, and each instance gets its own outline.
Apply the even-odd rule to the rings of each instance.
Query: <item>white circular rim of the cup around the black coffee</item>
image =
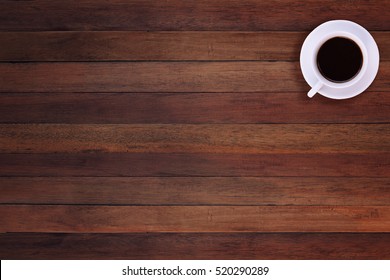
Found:
[[[332,38],[335,38],[335,37],[343,37],[343,38],[347,38],[347,39],[352,40],[354,43],[356,43],[358,45],[358,47],[360,48],[360,51],[362,52],[362,56],[363,56],[363,63],[362,63],[362,66],[361,66],[359,72],[352,79],[350,79],[346,82],[336,83],[336,82],[332,82],[332,81],[328,80],[327,78],[325,78],[321,74],[321,72],[317,66],[317,54],[318,54],[319,49],[326,41],[328,41]],[[312,70],[314,72],[314,75],[316,76],[316,78],[318,79],[319,82],[321,82],[323,85],[326,85],[326,86],[331,87],[331,88],[350,87],[350,86],[356,84],[359,80],[361,80],[364,77],[365,72],[367,71],[367,66],[368,66],[367,48],[366,48],[365,44],[362,42],[362,40],[351,32],[332,31],[332,32],[328,32],[328,33],[324,34],[322,36],[322,38],[320,40],[318,40],[318,42],[315,46],[315,50],[312,54],[313,55],[311,58],[311,61],[312,61],[311,64],[312,64],[312,68],[313,68]]]

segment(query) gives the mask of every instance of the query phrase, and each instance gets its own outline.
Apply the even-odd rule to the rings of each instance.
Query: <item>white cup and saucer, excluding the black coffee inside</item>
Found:
[[[345,82],[334,82],[324,77],[317,65],[317,54],[328,40],[341,37],[352,40],[362,54],[359,72]],[[308,92],[313,97],[317,92],[333,99],[354,97],[374,81],[379,68],[379,50],[371,34],[362,26],[347,20],[332,20],[315,28],[302,45],[300,65],[306,82],[311,86]]]

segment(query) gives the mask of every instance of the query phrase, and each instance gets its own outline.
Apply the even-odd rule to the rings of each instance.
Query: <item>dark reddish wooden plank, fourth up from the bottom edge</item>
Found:
[[[389,177],[390,153],[0,154],[0,176]]]

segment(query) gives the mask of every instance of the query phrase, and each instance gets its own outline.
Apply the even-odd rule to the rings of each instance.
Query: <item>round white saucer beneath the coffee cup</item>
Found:
[[[328,98],[346,99],[362,93],[374,81],[379,69],[379,50],[371,34],[362,26],[352,21],[332,20],[321,24],[307,36],[301,49],[301,70],[310,87],[314,87],[318,82],[313,71],[311,57],[316,55],[314,52],[317,51],[316,46],[318,46],[318,42],[321,38],[324,38],[327,34],[334,33],[335,31],[353,34],[364,43],[367,49],[367,70],[359,81],[345,88],[333,88],[328,85],[323,85],[318,91],[318,93]]]

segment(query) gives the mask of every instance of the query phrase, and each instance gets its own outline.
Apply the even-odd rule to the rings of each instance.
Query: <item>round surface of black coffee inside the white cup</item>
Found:
[[[359,46],[352,40],[334,37],[326,41],[317,54],[317,66],[321,74],[336,83],[354,78],[363,64]]]

